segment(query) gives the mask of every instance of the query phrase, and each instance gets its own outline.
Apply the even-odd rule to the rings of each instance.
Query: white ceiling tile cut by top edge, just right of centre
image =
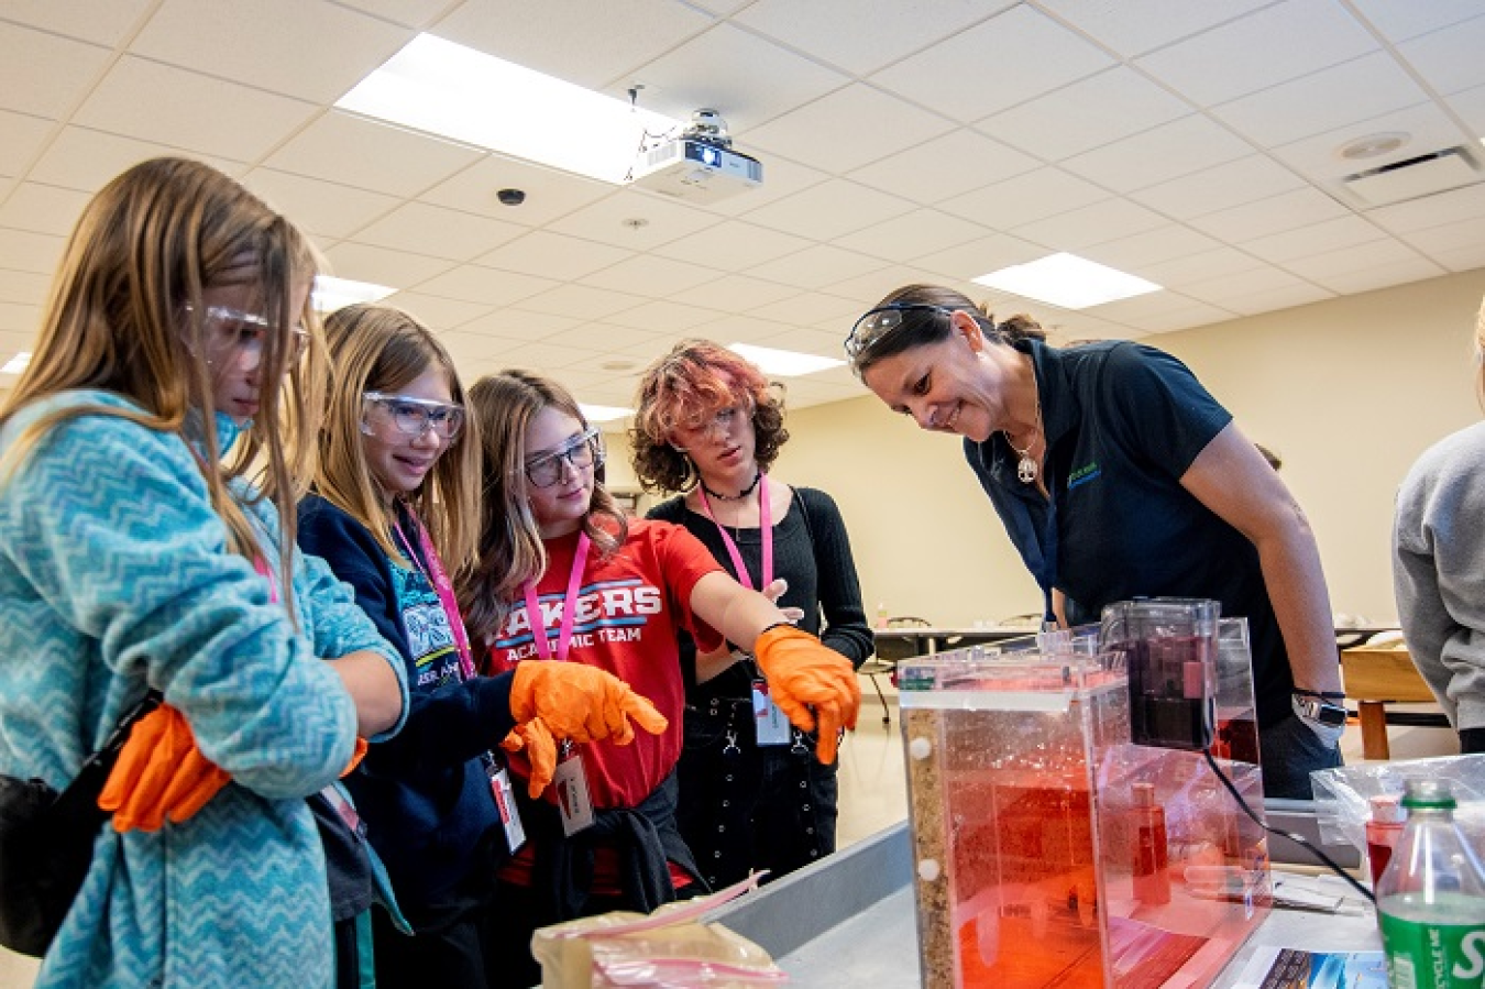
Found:
[[[884,3],[867,13],[855,0],[759,0],[737,21],[866,76],[1010,6],[1008,0],[934,0]]]

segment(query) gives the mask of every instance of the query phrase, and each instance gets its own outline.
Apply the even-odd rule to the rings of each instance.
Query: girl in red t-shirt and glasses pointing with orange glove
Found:
[[[774,702],[806,731],[818,720],[821,762],[855,725],[861,693],[848,659],[728,576],[695,536],[624,515],[597,477],[601,435],[560,385],[495,374],[469,391],[469,408],[484,453],[484,524],[459,598],[475,649],[492,670],[548,659],[600,667],[670,719],[655,737],[561,751],[541,719],[520,731],[517,775],[558,763],[554,786],[523,806],[530,841],[502,872],[497,898],[511,958],[529,959],[538,927],[649,912],[677,888],[704,890],[674,817],[685,705],[677,628],[704,647],[750,644]],[[533,964],[512,973],[512,985],[536,977]]]

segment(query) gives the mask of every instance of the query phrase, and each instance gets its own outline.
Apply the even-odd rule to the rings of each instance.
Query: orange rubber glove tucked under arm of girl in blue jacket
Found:
[[[232,780],[196,747],[186,717],[162,704],[135,723],[108,774],[98,806],[113,811],[113,830],[157,832],[180,824]]]

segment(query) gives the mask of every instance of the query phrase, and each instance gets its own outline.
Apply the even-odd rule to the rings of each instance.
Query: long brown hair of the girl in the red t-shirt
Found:
[[[544,408],[557,408],[588,426],[576,399],[557,382],[530,371],[500,371],[469,389],[483,460],[480,558],[459,587],[459,607],[469,639],[492,637],[529,581],[546,572],[546,548],[526,499],[526,429]],[[597,474],[597,471],[594,471]],[[628,538],[628,521],[613,496],[594,478],[582,530],[604,557]]]

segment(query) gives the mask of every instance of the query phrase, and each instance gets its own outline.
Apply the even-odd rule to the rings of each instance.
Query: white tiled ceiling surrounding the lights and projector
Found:
[[[420,31],[714,107],[763,186],[698,206],[331,108]],[[1485,172],[1374,208],[1341,178],[1485,159],[1482,50],[1485,0],[0,0],[0,364],[88,196],[166,151],[398,287],[468,377],[536,367],[601,404],[680,336],[839,356],[906,281],[1071,339],[1433,278],[1485,266]],[[1380,132],[1409,140],[1339,156]],[[1051,251],[1166,290],[1068,312],[967,282]]]

